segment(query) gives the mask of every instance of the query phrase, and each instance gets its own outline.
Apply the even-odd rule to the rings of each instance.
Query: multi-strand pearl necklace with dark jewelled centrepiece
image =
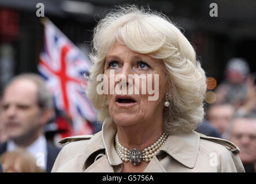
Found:
[[[128,150],[123,147],[118,141],[118,135],[116,133],[116,150],[117,154],[120,158],[125,162],[131,162],[133,165],[138,165],[140,162],[145,161],[149,162],[154,155],[157,155],[160,151],[159,148],[165,144],[168,135],[163,133],[162,136],[150,147],[144,148],[143,151],[139,151],[137,148],[133,148],[132,150]]]

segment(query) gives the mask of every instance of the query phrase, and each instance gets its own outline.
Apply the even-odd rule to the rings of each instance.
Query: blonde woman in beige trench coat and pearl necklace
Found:
[[[194,131],[203,118],[205,72],[164,15],[112,10],[95,28],[90,58],[87,96],[102,131],[61,140],[53,172],[244,171],[236,145]]]

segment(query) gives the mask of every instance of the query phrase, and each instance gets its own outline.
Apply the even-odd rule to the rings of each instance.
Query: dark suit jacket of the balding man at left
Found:
[[[0,155],[2,155],[7,149],[7,143],[0,144]],[[60,148],[55,147],[53,144],[47,142],[47,165],[46,165],[46,172],[50,173],[51,168],[53,168],[53,164],[55,159],[57,158],[59,152],[61,151]]]

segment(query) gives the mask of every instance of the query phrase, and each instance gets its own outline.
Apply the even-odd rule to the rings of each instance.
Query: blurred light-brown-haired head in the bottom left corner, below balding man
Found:
[[[5,152],[1,160],[5,173],[44,173],[44,170],[36,165],[34,156],[24,148]]]

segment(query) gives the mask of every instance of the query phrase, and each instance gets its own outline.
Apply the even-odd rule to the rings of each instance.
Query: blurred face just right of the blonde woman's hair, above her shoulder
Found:
[[[223,136],[234,115],[235,108],[231,104],[213,104],[208,109],[207,120]]]

